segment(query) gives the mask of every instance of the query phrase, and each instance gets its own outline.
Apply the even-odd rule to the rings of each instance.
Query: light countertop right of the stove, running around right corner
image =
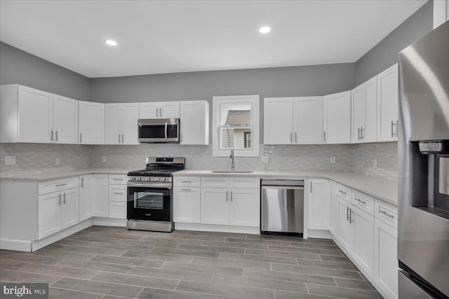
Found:
[[[398,182],[382,179],[377,176],[368,176],[356,172],[333,172],[333,171],[288,171],[288,172],[265,172],[255,171],[252,174],[239,173],[213,173],[212,170],[181,170],[175,172],[175,176],[256,176],[262,179],[331,179],[344,186],[353,188],[362,193],[371,195],[379,200],[397,207],[398,205]]]

